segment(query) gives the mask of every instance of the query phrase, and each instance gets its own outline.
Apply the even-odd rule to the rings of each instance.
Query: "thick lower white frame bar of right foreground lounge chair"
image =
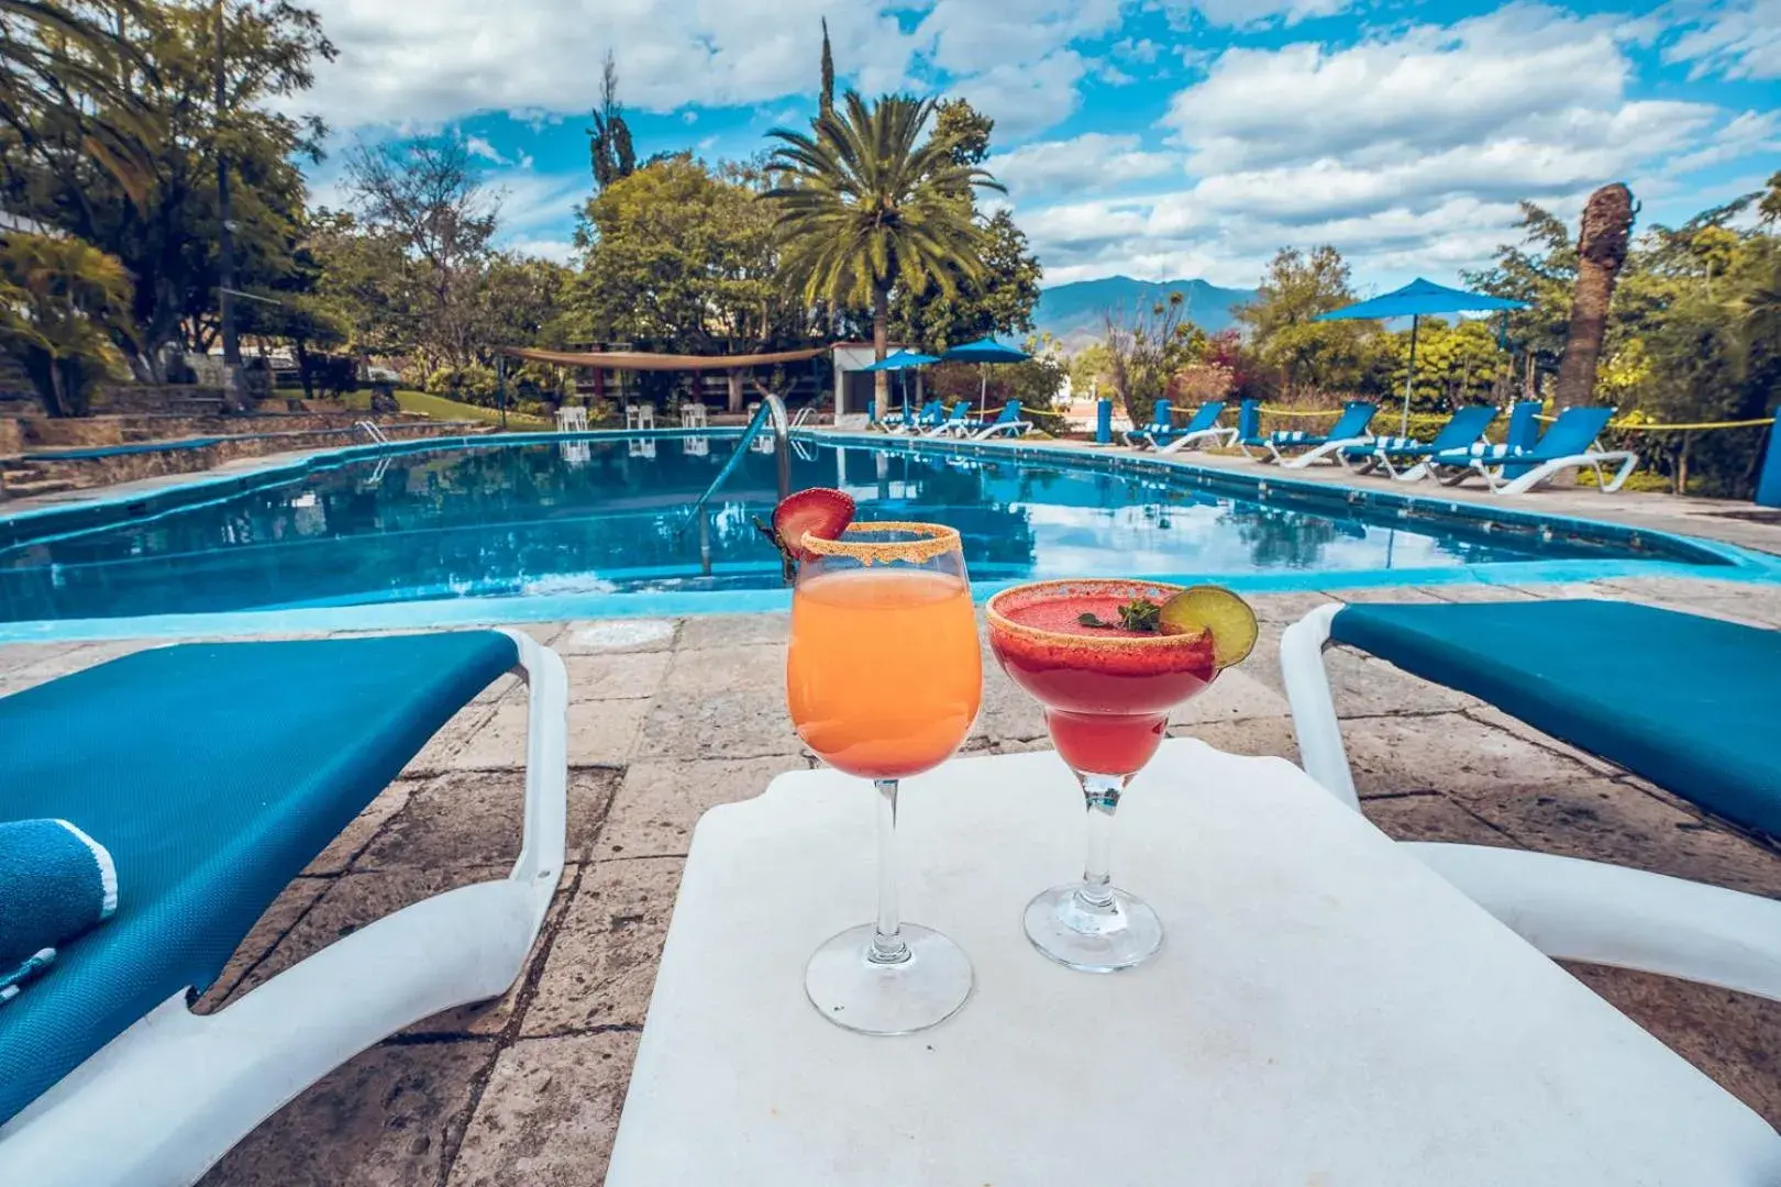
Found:
[[[1774,899],[1546,852],[1405,845],[1546,956],[1781,1002],[1781,902]]]

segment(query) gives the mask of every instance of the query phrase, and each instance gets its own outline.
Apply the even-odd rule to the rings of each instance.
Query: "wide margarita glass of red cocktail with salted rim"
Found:
[[[1131,968],[1163,945],[1156,911],[1108,874],[1113,812],[1163,744],[1168,712],[1199,696],[1218,662],[1209,630],[1158,634],[1108,623],[1120,623],[1120,607],[1134,600],[1165,603],[1179,593],[1181,585],[1138,580],[1037,582],[1004,589],[987,607],[996,658],[1045,708],[1058,756],[1083,787],[1083,881],[1053,886],[1026,908],[1033,947],[1083,972]]]

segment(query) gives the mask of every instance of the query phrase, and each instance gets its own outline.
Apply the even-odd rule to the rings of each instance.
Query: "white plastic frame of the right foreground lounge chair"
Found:
[[[1343,607],[1281,637],[1281,673],[1305,772],[1361,808],[1323,669]],[[1523,849],[1403,842],[1418,860],[1553,959],[1633,968],[1781,1000],[1781,902],[1619,865]]]

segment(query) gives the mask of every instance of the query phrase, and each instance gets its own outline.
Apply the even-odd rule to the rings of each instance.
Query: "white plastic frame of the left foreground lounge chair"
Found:
[[[180,993],[0,1128],[0,1183],[185,1187],[303,1089],[379,1039],[504,993],[563,874],[568,674],[531,635],[525,836],[508,877],[433,895],[337,940],[216,1014]]]

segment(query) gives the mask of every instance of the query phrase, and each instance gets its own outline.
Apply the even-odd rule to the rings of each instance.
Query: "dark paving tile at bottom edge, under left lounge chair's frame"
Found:
[[[493,1039],[374,1046],[278,1110],[201,1187],[436,1187],[493,1057]]]

